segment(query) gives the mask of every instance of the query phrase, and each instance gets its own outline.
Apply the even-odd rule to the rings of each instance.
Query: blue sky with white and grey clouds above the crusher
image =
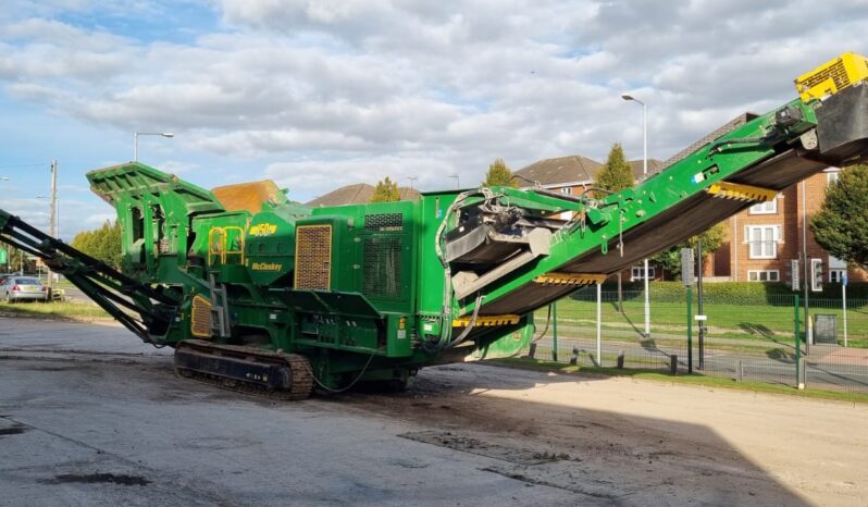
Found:
[[[612,144],[665,160],[793,78],[868,53],[868,0],[3,0],[0,208],[60,236],[114,210],[85,173],[133,159],[308,201],[390,176],[478,185]],[[2,180],[8,178],[8,180]]]

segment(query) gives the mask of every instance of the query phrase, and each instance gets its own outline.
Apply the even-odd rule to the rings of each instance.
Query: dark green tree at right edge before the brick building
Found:
[[[841,171],[820,211],[810,219],[810,231],[829,253],[868,268],[868,165]]]

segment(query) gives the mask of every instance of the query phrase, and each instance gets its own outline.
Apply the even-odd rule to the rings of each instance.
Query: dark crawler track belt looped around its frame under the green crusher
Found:
[[[311,373],[310,362],[305,356],[271,350],[257,350],[250,347],[235,345],[215,345],[201,339],[184,341],[178,346],[178,349],[184,347],[200,353],[208,353],[214,357],[223,357],[228,360],[233,358],[244,358],[247,360],[256,359],[257,361],[272,364],[287,364],[293,372],[293,381],[292,387],[287,391],[268,389],[256,383],[248,383],[237,379],[227,379],[221,375],[212,375],[176,367],[175,373],[184,379],[213,385],[226,391],[234,391],[236,393],[281,401],[306,399],[313,391],[313,375]]]

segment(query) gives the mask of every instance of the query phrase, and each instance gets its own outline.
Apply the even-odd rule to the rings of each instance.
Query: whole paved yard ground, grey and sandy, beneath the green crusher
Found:
[[[868,497],[868,407],[486,364],[272,403],[176,378],[171,354],[116,325],[0,319],[0,505]]]

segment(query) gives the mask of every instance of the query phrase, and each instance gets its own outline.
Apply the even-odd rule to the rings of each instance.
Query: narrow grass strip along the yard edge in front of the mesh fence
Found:
[[[517,368],[526,368],[531,370],[557,372],[566,374],[595,374],[605,376],[631,376],[634,379],[644,379],[657,382],[670,382],[684,385],[697,385],[702,387],[721,387],[734,391],[749,391],[753,393],[768,393],[780,394],[786,396],[796,396],[799,398],[811,399],[831,399],[838,401],[852,401],[868,404],[868,394],[864,393],[846,393],[839,391],[823,391],[823,389],[796,389],[788,385],[769,384],[767,382],[735,382],[732,379],[723,376],[709,376],[698,373],[694,374],[678,374],[672,375],[669,373],[661,373],[659,370],[647,369],[624,369],[617,368],[600,368],[600,367],[579,367],[572,364],[565,364],[562,362],[546,361],[540,359],[529,358],[504,358],[492,359],[487,362],[506,364]]]

